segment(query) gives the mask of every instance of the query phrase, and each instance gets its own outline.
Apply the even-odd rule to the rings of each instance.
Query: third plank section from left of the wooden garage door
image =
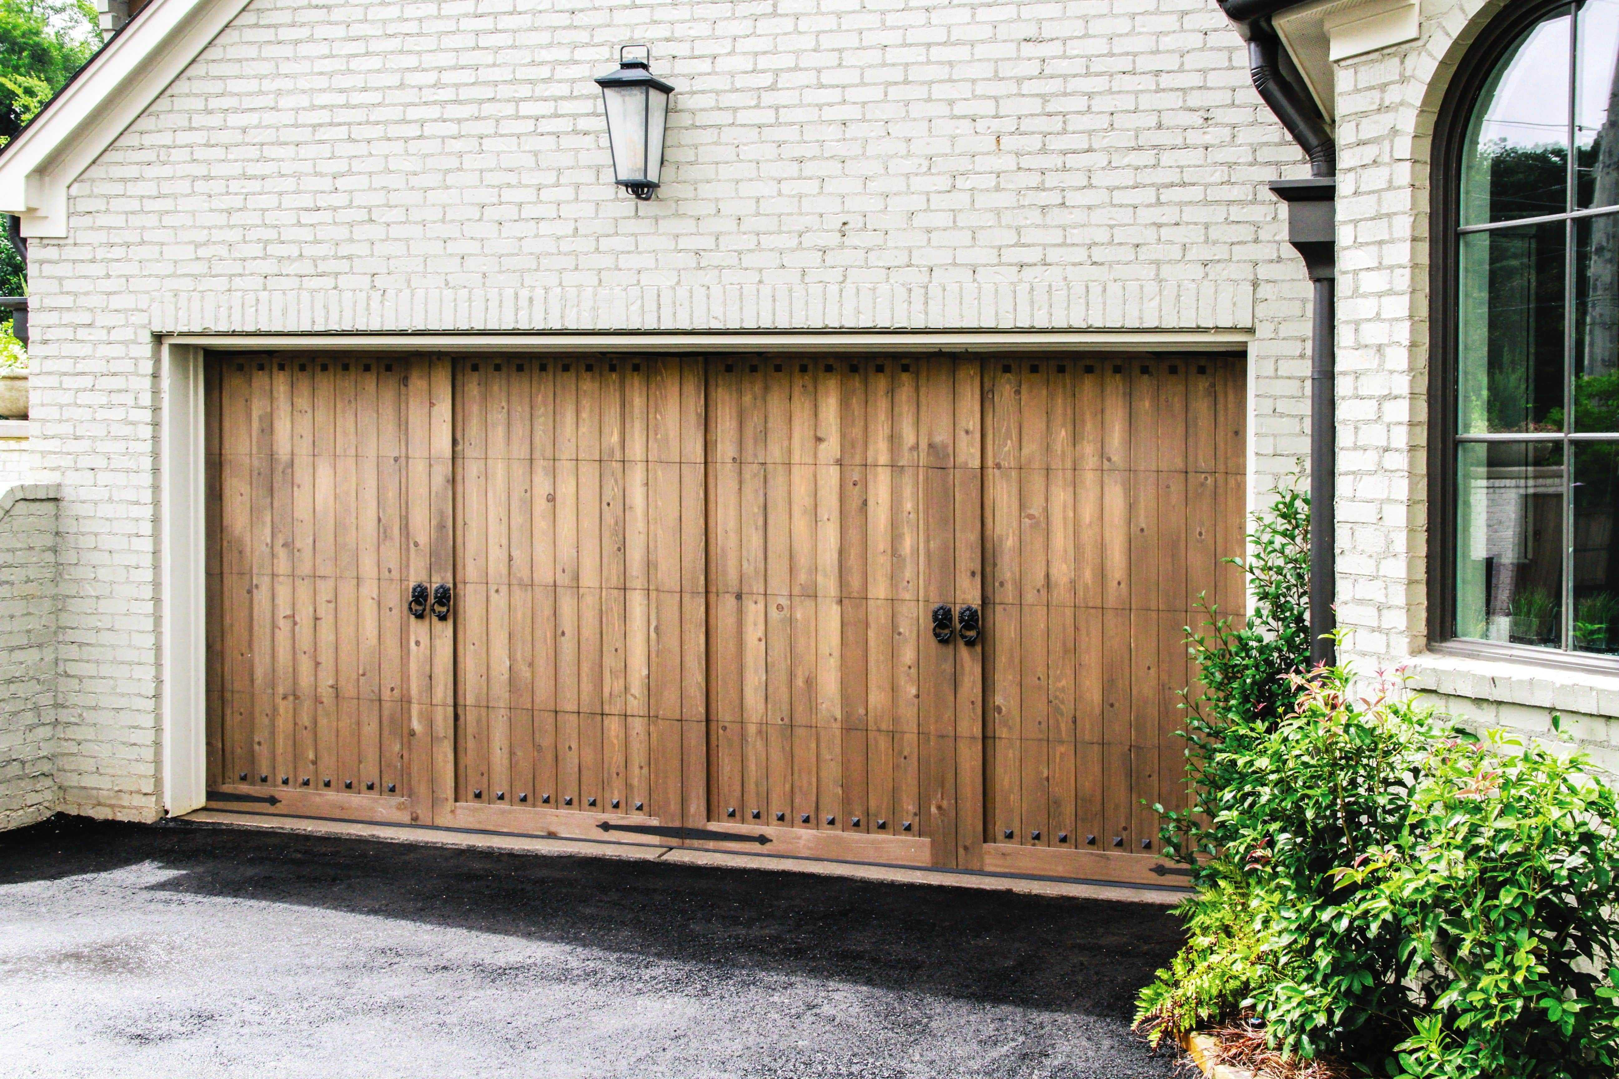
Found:
[[[774,851],[976,865],[979,370],[709,362],[709,820]]]

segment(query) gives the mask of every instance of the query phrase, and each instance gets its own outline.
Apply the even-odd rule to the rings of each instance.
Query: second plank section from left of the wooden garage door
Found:
[[[680,361],[468,356],[453,369],[461,600],[447,814],[499,804],[521,812],[489,820],[521,830],[550,827],[541,810],[618,802],[678,820],[693,545]],[[698,611],[698,639],[706,621]],[[657,715],[674,726],[661,731]]]

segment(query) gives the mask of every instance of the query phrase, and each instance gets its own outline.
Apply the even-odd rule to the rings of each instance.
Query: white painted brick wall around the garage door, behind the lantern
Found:
[[[644,204],[591,83],[623,42],[678,87]],[[1310,288],[1266,189],[1300,175],[1213,0],[254,0],[73,186],[70,236],[31,246],[65,806],[160,806],[154,328],[274,319],[267,294],[338,320],[466,296],[484,325],[526,296],[562,328],[567,290],[593,325],[665,325],[644,298],[680,290],[735,328],[892,322],[884,290],[962,327],[1224,319],[1256,335],[1263,489],[1308,451]],[[758,301],[814,290],[871,311]]]

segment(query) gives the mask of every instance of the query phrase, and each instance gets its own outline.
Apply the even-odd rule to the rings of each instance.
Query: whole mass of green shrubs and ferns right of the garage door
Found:
[[[1298,569],[1305,532],[1274,535],[1298,529],[1298,497],[1279,508],[1256,531],[1264,581]],[[1253,624],[1297,615],[1255,595]],[[1302,650],[1211,621],[1187,738],[1193,775],[1219,786],[1166,814],[1198,895],[1141,1027],[1260,1032],[1300,1074],[1614,1076],[1619,806],[1588,762],[1460,731],[1397,678],[1357,696],[1347,670],[1303,671]],[[1285,663],[1285,704],[1250,691]]]

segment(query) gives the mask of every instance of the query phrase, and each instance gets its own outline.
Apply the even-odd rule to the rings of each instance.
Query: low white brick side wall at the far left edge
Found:
[[[0,490],[0,831],[57,807],[57,500],[49,484]]]

